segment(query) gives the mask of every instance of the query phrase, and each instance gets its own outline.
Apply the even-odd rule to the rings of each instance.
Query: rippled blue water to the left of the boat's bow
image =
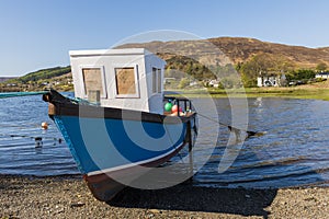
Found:
[[[48,130],[41,124],[47,122]],[[42,137],[43,147],[36,148],[34,138],[10,137],[22,135]],[[47,115],[47,104],[41,95],[0,99],[0,173],[59,175],[79,173],[55,124]]]

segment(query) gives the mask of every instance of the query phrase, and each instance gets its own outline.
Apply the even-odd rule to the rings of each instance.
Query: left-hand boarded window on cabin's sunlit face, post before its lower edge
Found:
[[[104,91],[103,68],[82,68],[84,95],[90,92],[100,92],[101,97],[106,97]]]

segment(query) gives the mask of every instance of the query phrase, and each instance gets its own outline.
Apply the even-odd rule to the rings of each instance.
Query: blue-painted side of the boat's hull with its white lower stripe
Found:
[[[159,123],[63,115],[54,116],[54,119],[79,170],[89,175],[160,160],[174,153],[184,143],[186,135],[186,124],[163,126]],[[132,132],[140,126],[149,136],[135,135],[133,139]]]

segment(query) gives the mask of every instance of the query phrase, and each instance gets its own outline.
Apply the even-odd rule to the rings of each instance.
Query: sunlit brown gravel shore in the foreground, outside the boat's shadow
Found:
[[[93,198],[81,176],[0,175],[0,218],[326,218],[329,187],[126,188],[111,203]]]

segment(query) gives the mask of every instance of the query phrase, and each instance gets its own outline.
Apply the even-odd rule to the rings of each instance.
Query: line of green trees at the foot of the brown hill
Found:
[[[173,56],[167,60],[166,77],[195,81],[220,81],[219,88],[257,87],[258,77],[285,74],[287,81],[314,79],[317,72],[327,71],[328,66],[319,62],[314,69],[298,69],[292,60],[273,54],[258,54],[248,61],[225,66],[204,66],[197,60]],[[241,80],[237,79],[237,76]]]

